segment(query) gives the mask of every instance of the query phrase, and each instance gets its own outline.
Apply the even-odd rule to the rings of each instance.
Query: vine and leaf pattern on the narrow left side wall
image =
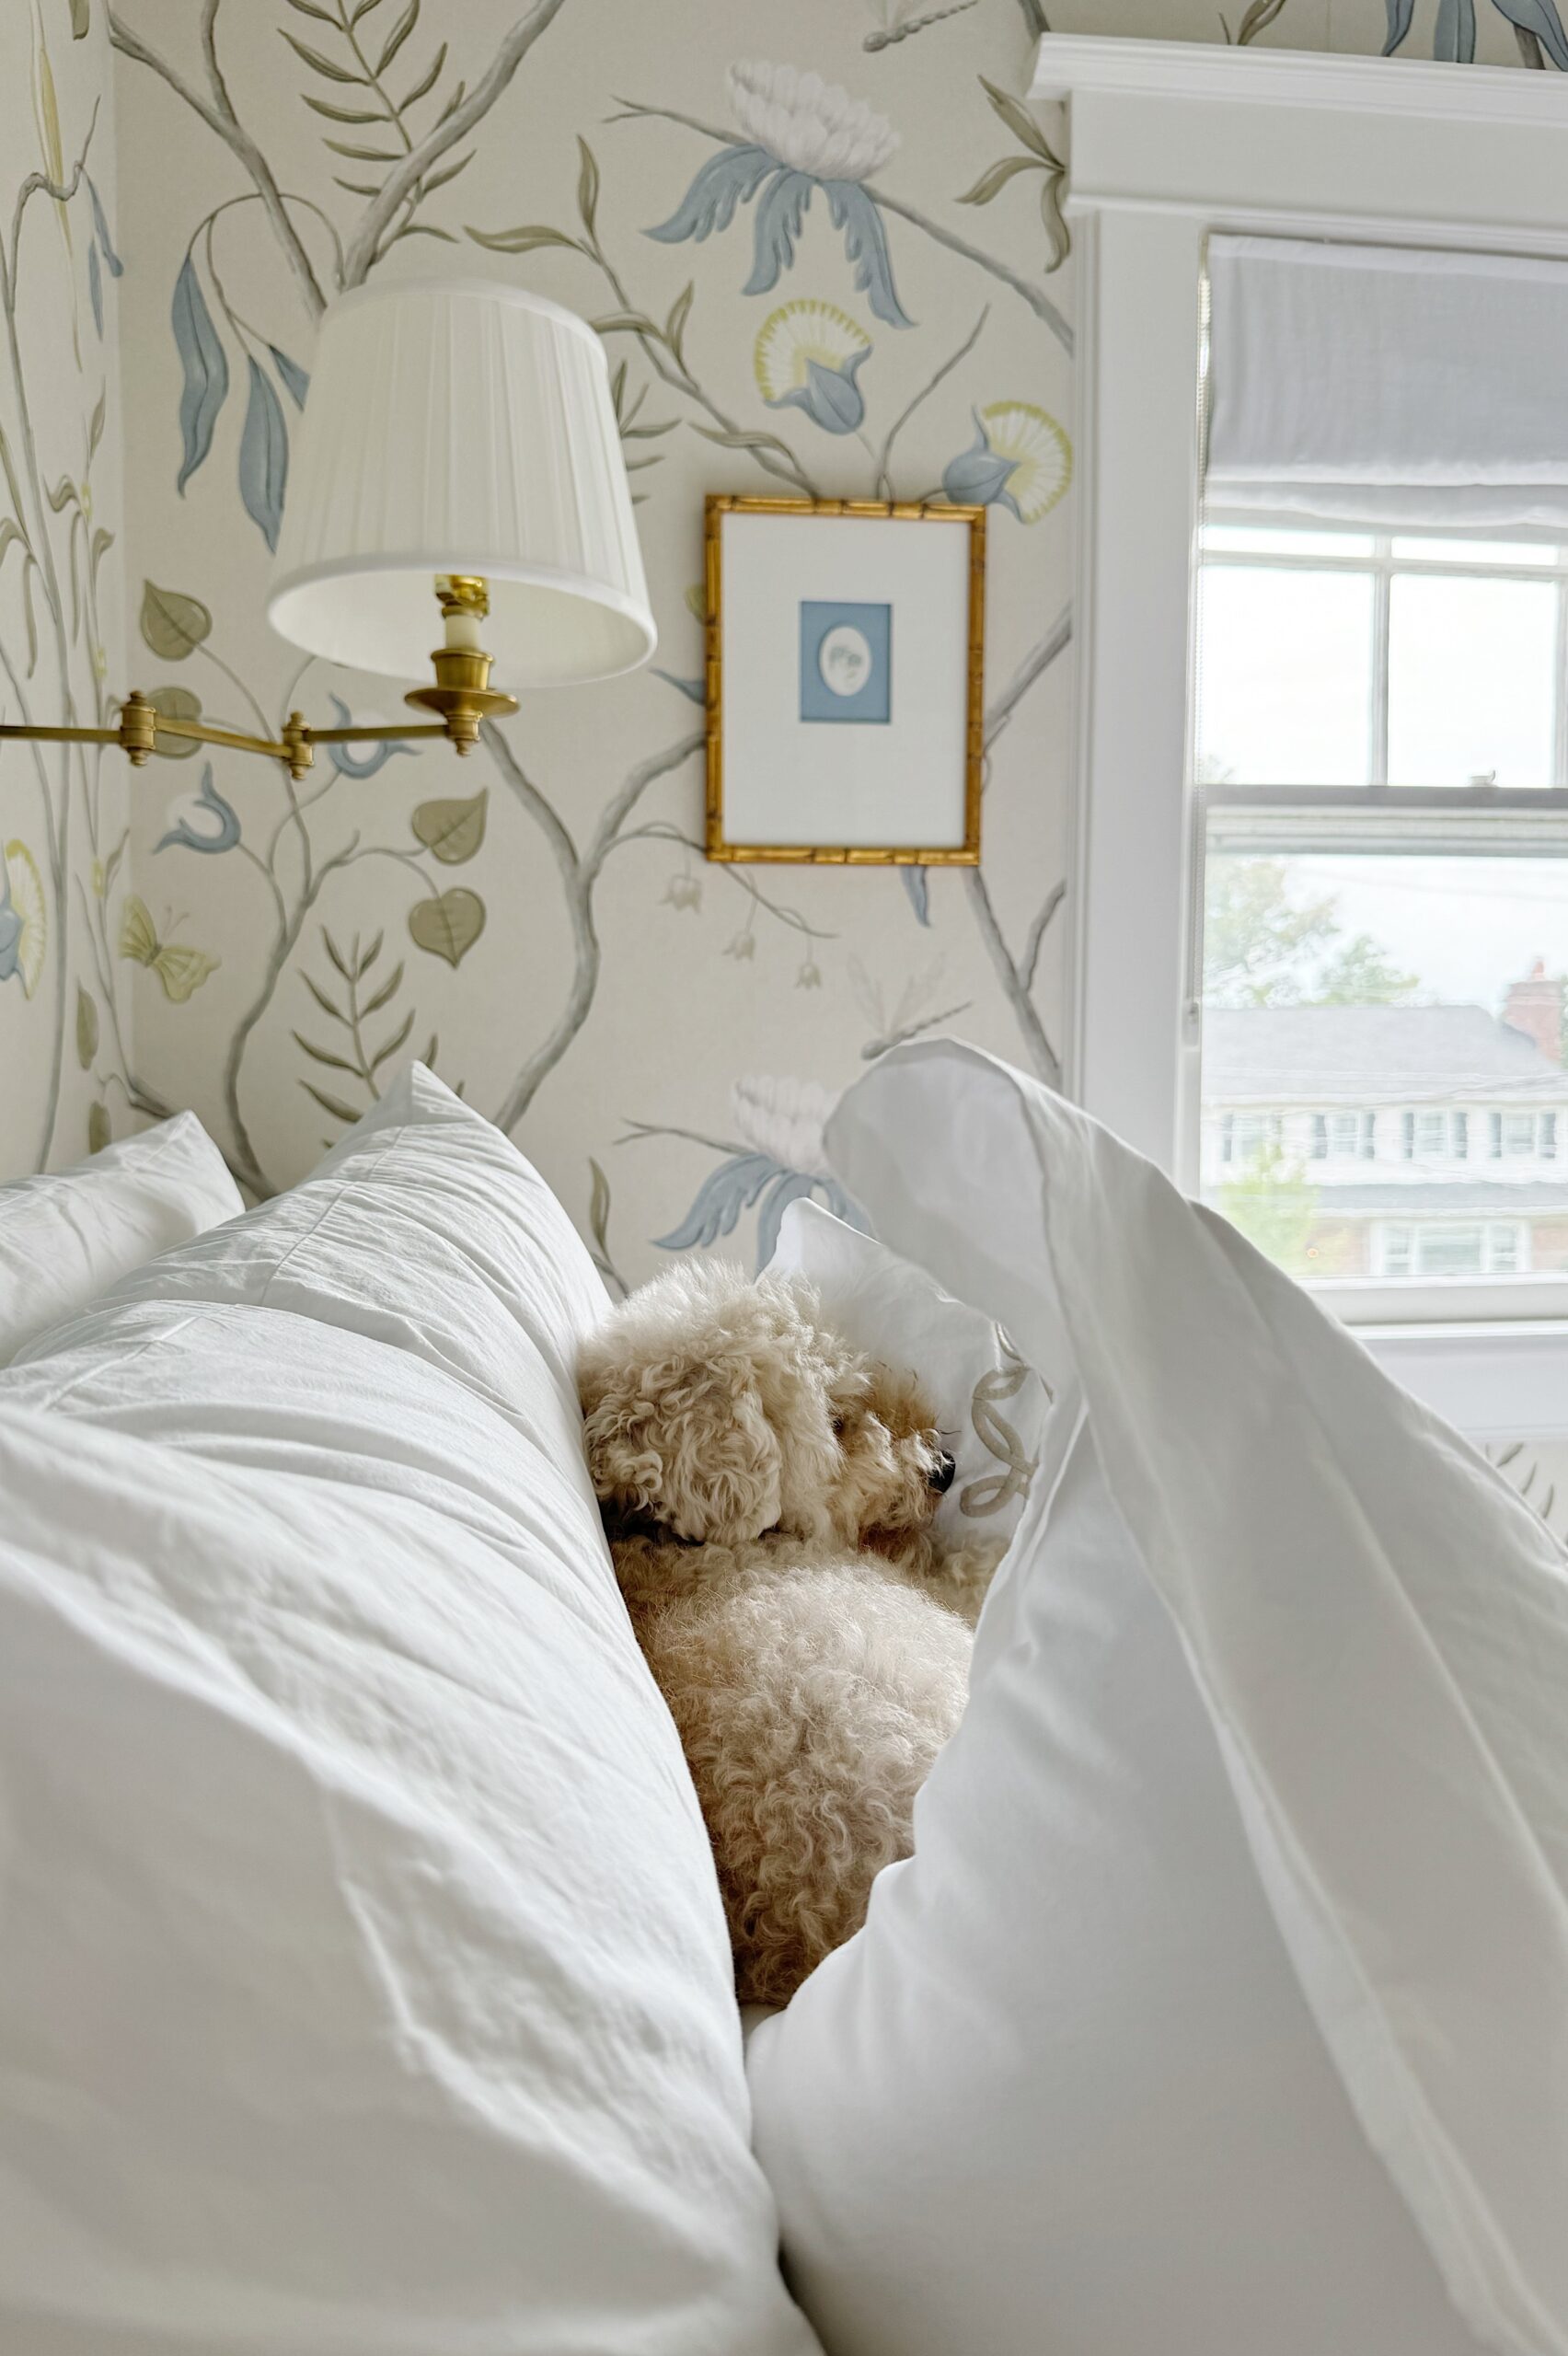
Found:
[[[73,5],[71,31],[78,40],[89,31],[85,0]],[[89,170],[99,106],[92,108],[80,151],[66,165],[42,12],[33,16],[31,40],[40,163],[19,179],[9,224],[0,233],[7,412],[14,429],[7,434],[0,426],[0,577],[9,573],[19,582],[24,622],[21,646],[0,643],[5,716],[24,726],[106,728],[111,726],[108,660],[99,608],[113,532],[94,516],[94,462],[108,429],[104,283],[106,276],[120,278],[122,262]],[[59,236],[57,266],[66,273],[71,302],[71,358],[85,386],[80,464],[64,469],[54,481],[45,476],[40,457],[35,372],[45,358],[54,368],[57,356],[45,353],[21,320],[26,273],[45,269],[38,243],[40,238],[52,243],[49,217]],[[78,271],[87,283],[92,335],[80,316]],[[132,1079],[125,1008],[115,987],[111,907],[122,881],[125,834],[115,832],[111,841],[104,747],[31,742],[5,747],[5,759],[7,766],[31,763],[42,829],[42,839],[9,834],[0,841],[0,987],[14,985],[28,999],[31,1020],[49,1025],[33,1147],[33,1162],[42,1169],[57,1150],[68,1039],[75,1044],[82,1072],[89,1072],[97,1086],[87,1117],[87,1147],[108,1138],[111,1091],[118,1088],[137,1110],[162,1107],[144,1100]],[[85,827],[85,858],[78,851],[78,822]],[[7,829],[0,829],[0,836],[7,836]],[[78,945],[85,949],[92,985],[78,980],[71,999],[71,975],[82,964]],[[80,1152],[75,1140],[68,1140],[68,1147]]]

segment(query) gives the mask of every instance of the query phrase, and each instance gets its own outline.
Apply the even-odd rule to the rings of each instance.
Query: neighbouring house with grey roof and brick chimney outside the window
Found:
[[[1201,1187],[1314,1279],[1568,1272],[1563,982],[1537,966],[1502,1015],[1210,1008]]]

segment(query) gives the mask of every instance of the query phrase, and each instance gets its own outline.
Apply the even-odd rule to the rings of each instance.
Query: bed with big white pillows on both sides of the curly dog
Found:
[[[1055,1407],[916,1857],[749,2054],[499,1131],[414,1067],[0,1366],[7,2351],[1568,2349],[1554,1541],[1005,1065],[833,1157]]]

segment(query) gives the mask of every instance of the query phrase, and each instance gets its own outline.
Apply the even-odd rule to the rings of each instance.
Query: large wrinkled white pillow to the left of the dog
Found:
[[[0,2347],[810,2356],[600,1308],[412,1072],[0,1374]]]

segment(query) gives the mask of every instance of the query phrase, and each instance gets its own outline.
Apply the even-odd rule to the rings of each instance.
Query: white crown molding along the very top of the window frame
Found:
[[[1453,123],[1530,123],[1568,130],[1568,75],[1523,66],[1443,66],[1429,59],[1342,57],[1328,49],[1245,49],[1203,40],[1043,33],[1029,97],[1231,99],[1340,113]]]

